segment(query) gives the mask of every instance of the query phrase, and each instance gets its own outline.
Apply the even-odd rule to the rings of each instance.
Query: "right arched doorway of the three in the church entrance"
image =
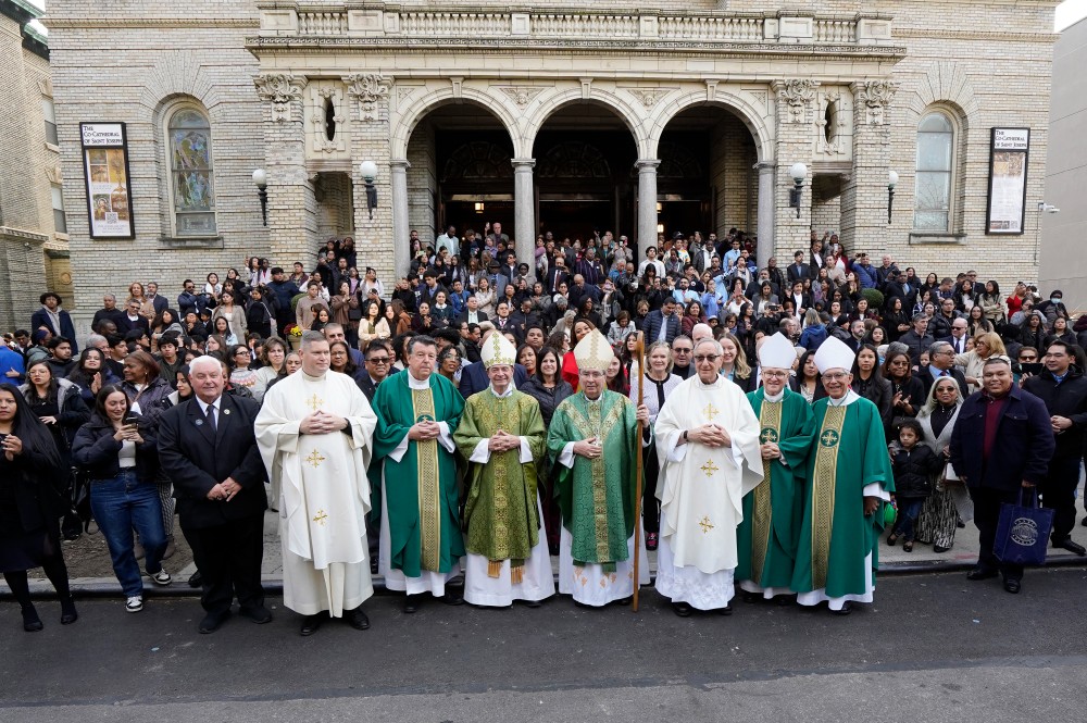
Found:
[[[739,116],[721,105],[689,107],[664,126],[657,155],[658,229],[665,237],[754,230],[759,154]]]

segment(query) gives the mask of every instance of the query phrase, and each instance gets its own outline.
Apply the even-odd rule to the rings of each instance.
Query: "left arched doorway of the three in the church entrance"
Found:
[[[472,101],[428,112],[408,140],[408,219],[424,244],[452,225],[463,238],[486,224],[513,228],[513,142],[502,121]],[[507,230],[505,233],[511,233]]]

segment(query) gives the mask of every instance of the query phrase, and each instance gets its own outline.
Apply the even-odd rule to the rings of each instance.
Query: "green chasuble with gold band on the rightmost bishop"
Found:
[[[813,404],[815,441],[808,457],[792,589],[826,588],[827,597],[839,598],[869,591],[864,559],[870,553],[873,576],[878,566],[883,504],[866,516],[864,487],[877,483],[892,493],[895,478],[879,409],[863,397],[844,407],[829,402]]]

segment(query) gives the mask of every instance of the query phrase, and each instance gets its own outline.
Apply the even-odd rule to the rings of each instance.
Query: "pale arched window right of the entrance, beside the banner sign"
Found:
[[[933,111],[917,124],[916,194],[913,227],[951,230],[951,188],[954,171],[954,124]]]

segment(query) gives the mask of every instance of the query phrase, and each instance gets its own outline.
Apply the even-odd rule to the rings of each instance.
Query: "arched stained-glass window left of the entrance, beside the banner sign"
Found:
[[[177,236],[214,236],[215,175],[211,124],[204,113],[182,105],[168,115],[170,202]]]

